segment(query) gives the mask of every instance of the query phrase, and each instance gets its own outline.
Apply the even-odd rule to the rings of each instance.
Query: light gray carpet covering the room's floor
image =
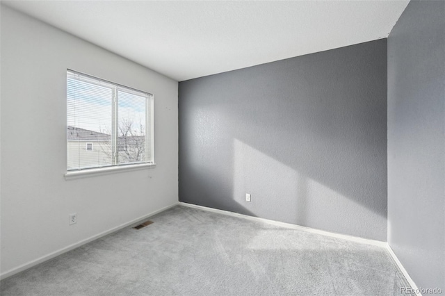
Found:
[[[401,295],[386,249],[176,206],[0,282],[8,295]],[[404,294],[407,295],[407,294]]]

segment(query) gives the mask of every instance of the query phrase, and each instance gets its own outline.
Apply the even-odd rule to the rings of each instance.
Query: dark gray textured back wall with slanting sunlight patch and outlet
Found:
[[[386,40],[179,83],[179,200],[386,241]]]

